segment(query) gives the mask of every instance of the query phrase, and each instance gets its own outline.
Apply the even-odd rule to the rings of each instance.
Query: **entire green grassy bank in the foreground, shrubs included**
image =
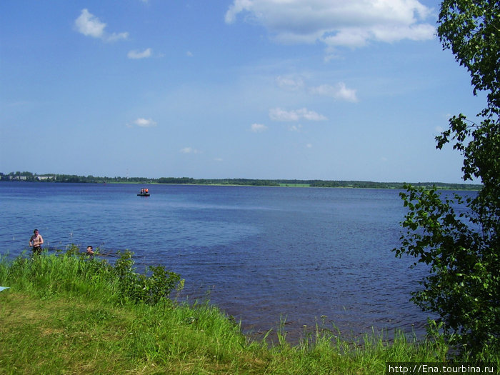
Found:
[[[0,261],[0,374],[383,374],[386,362],[443,361],[446,346],[405,336],[349,343],[316,329],[291,346],[251,341],[215,306],[175,301],[182,280],[136,274],[131,254]]]

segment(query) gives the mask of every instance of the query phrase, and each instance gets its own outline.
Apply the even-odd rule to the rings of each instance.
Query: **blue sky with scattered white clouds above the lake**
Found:
[[[0,2],[0,171],[461,182],[439,1]]]

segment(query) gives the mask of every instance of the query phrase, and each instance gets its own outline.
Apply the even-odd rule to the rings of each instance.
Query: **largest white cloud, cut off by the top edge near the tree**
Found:
[[[433,39],[431,9],[418,0],[233,0],[225,21],[239,15],[262,24],[275,41],[361,47],[369,41]]]

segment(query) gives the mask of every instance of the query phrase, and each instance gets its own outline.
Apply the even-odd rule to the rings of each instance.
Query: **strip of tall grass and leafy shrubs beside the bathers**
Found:
[[[37,286],[43,296],[60,292],[102,293],[120,304],[150,305],[169,301],[171,291],[184,286],[181,276],[166,271],[164,266],[149,266],[144,274],[138,274],[130,251],[118,255],[111,265],[96,256],[80,253],[72,245],[64,254],[35,255],[30,259],[19,256],[8,267],[0,267],[0,281],[20,283],[25,289]]]

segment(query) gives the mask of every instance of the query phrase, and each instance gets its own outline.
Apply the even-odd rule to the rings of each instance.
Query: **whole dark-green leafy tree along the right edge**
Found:
[[[479,124],[459,114],[436,137],[436,148],[454,142],[464,156],[463,179],[480,179],[477,196],[455,201],[434,190],[406,186],[406,233],[396,255],[409,254],[430,266],[424,289],[412,299],[439,314],[431,324],[464,355],[481,359],[500,349],[500,4],[444,0],[439,14],[444,49],[469,70],[474,95],[485,91]],[[459,207],[454,209],[453,207]]]

